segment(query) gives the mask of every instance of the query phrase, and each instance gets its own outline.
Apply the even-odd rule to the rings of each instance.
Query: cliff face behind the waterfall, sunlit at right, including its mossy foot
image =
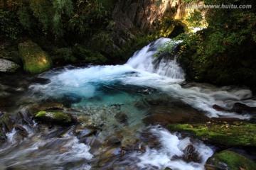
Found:
[[[138,38],[144,38],[146,45],[150,39],[145,39],[150,36],[156,39],[169,35],[174,29],[174,20],[183,17],[184,9],[185,5],[181,0],[117,1],[112,11],[114,26],[105,30],[110,40],[92,40],[92,45],[96,44],[103,53],[109,55],[125,51],[124,46]]]

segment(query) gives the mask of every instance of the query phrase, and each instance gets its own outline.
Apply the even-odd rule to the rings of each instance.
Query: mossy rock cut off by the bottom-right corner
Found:
[[[206,169],[232,169],[232,170],[252,170],[256,169],[255,162],[242,156],[241,154],[224,150],[213,154],[206,162]]]

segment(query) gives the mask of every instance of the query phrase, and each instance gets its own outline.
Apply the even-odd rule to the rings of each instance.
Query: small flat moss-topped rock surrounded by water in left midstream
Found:
[[[36,113],[35,118],[46,124],[72,125],[77,123],[73,115],[63,112],[40,111]]]

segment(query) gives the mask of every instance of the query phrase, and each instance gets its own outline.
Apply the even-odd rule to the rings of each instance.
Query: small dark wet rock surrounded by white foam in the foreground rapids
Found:
[[[183,151],[183,160],[186,162],[198,162],[202,161],[201,157],[196,152],[195,147],[193,145],[188,145]]]

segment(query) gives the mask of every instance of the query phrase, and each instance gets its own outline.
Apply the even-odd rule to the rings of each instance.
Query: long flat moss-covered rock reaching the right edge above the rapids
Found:
[[[169,130],[191,132],[201,140],[223,146],[256,146],[256,124],[232,123],[171,124]]]

